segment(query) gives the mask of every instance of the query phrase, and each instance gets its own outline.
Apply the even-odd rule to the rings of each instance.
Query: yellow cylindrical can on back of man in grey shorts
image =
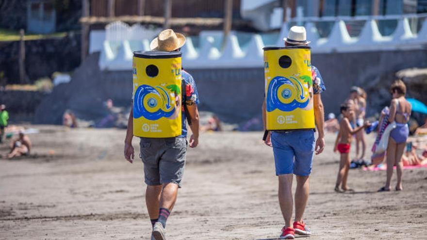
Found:
[[[181,52],[133,52],[133,135],[181,135]]]

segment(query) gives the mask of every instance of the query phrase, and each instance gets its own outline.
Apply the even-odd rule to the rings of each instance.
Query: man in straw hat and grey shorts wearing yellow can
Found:
[[[184,44],[184,35],[168,29],[151,42],[152,51],[134,52],[133,108],[124,155],[133,162],[132,138],[140,137],[151,240],[165,240],[166,220],[181,188],[187,150],[186,119],[192,130],[188,146],[198,144],[199,100],[196,82],[181,68],[179,51]]]

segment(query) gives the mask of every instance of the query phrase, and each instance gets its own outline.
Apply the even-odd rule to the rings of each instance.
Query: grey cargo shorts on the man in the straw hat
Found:
[[[186,138],[141,138],[140,158],[144,163],[145,183],[175,183],[181,188],[187,153]]]

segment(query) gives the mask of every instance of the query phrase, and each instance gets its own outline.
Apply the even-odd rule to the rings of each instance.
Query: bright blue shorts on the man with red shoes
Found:
[[[276,175],[309,176],[314,156],[314,131],[298,130],[271,134]]]

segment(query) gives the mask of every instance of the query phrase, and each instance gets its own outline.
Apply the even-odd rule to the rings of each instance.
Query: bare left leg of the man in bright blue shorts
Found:
[[[292,226],[292,208],[294,208],[294,199],[292,197],[293,178],[293,174],[279,175],[279,205],[285,220],[285,227]]]

